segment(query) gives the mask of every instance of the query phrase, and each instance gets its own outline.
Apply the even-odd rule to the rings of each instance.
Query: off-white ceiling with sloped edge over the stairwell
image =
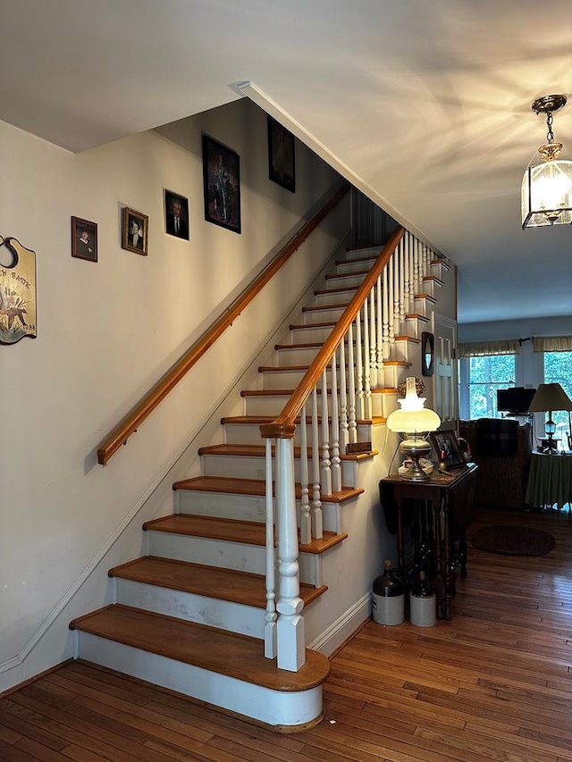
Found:
[[[459,322],[571,314],[572,229],[521,230],[572,96],[561,0],[0,0],[0,119],[70,151],[240,97],[458,264]],[[572,101],[554,115],[572,149]]]

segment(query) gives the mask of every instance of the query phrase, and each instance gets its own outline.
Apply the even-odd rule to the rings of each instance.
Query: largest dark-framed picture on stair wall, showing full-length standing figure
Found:
[[[240,233],[240,157],[203,135],[205,219]]]

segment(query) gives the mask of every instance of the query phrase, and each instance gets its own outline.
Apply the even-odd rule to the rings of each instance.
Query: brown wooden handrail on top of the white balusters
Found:
[[[263,423],[260,426],[261,436],[265,439],[291,439],[294,436],[295,420],[299,416],[302,407],[310,396],[317,381],[322,377],[325,368],[332,359],[333,353],[339,347],[341,340],[346,335],[350,324],[355,320],[357,313],[363,305],[366,296],[374,288],[383,268],[389,262],[391,255],[398,247],[400,240],[405,233],[404,228],[397,228],[391,235],[389,241],[383,247],[383,251],[377,257],[374,267],[367,273],[364,281],[356,291],[356,294],[349,302],[349,305],[341,315],[340,320],[332,328],[332,332],[324,342],[324,346],[315,356],[314,361],[307,369],[306,375],[294,389],[292,395],[282,413],[275,418],[272,423]]]

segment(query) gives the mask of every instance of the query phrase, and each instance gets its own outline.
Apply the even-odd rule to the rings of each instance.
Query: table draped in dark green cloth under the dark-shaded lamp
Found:
[[[526,484],[525,502],[536,508],[572,503],[572,455],[534,452]]]

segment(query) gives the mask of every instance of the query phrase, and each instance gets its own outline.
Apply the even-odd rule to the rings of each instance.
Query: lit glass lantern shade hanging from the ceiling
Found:
[[[522,226],[572,222],[572,162],[552,159],[529,166],[522,179]]]

